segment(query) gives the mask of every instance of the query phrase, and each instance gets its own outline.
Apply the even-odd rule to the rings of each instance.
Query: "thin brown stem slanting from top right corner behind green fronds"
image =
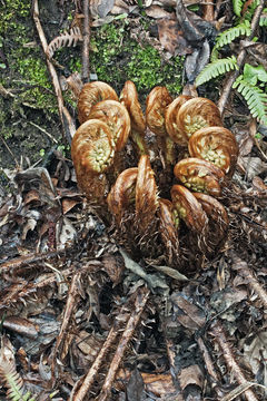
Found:
[[[248,40],[251,40],[255,37],[255,32],[256,32],[256,29],[258,28],[259,18],[260,18],[264,7],[265,7],[265,0],[260,0],[260,3],[257,7],[257,9],[254,13],[253,20],[251,20],[251,33],[250,33]],[[240,74],[240,68],[243,67],[243,65],[245,62],[245,58],[246,58],[246,49],[243,49],[237,57],[238,70],[236,70],[235,72],[233,72],[229,76],[229,78],[225,85],[224,91],[218,101],[218,108],[219,108],[221,115],[225,110],[228,97],[229,97],[231,88],[233,88],[233,84],[235,82],[235,80],[237,79],[237,77]]]

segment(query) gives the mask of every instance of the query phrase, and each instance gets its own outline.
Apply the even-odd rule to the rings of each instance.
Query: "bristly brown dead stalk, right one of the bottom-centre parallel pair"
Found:
[[[127,326],[121,335],[120,342],[117,346],[117,350],[115,352],[113,359],[110,363],[109,371],[106,375],[101,393],[98,397],[98,401],[106,401],[110,397],[111,387],[116,376],[116,373],[119,369],[120,362],[122,360],[122,356],[125,354],[126,348],[136,330],[136,326],[139,322],[139,319],[142,314],[144,307],[146,306],[146,303],[148,301],[150,292],[148,288],[142,287],[141,291],[137,294],[136,301],[135,301],[135,307],[134,312],[131,313]]]

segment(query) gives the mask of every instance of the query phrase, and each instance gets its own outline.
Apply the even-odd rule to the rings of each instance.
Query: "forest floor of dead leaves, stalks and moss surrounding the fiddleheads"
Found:
[[[231,2],[217,1],[211,22],[185,2],[198,14],[192,40],[180,1],[91,0],[89,48],[86,1],[39,1],[39,14],[36,0],[0,3],[0,400],[265,400],[266,125],[239,92],[226,95],[231,72],[194,85],[214,29],[233,26]],[[266,32],[255,36],[265,51]],[[155,86],[221,106],[239,156],[219,198],[229,227],[217,252],[201,254],[182,225],[179,265],[159,232],[144,245],[132,222],[120,236],[105,206],[86,200],[70,155],[80,74],[118,96],[132,80],[142,109]],[[158,192],[170,197],[177,179],[152,136]],[[131,143],[122,158],[137,166]]]

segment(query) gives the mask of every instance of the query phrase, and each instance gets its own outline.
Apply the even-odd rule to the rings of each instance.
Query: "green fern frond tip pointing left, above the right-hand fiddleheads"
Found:
[[[219,75],[226,74],[230,70],[238,69],[236,57],[227,57],[224,59],[217,59],[212,62],[209,62],[202,71],[196,78],[196,86],[202,85],[209,81],[212,78],[218,77]]]

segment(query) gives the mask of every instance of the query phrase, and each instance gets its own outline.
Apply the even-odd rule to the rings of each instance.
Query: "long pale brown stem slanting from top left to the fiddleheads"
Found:
[[[73,137],[73,135],[76,133],[76,126],[75,126],[75,123],[73,123],[69,111],[65,107],[62,91],[60,88],[57,71],[56,71],[53,65],[51,63],[51,61],[49,60],[48,42],[47,42],[44,32],[43,32],[43,29],[42,29],[42,26],[40,22],[40,18],[39,18],[38,0],[33,0],[33,21],[36,23],[36,28],[37,28],[37,31],[38,31],[38,35],[39,35],[39,38],[41,41],[41,46],[42,46],[43,52],[46,55],[48,70],[51,76],[51,79],[52,79],[55,94],[57,96],[59,116],[60,116],[60,120],[61,120],[62,128],[63,128],[63,136],[65,136],[65,139],[67,139],[68,143],[70,144],[71,138]]]

